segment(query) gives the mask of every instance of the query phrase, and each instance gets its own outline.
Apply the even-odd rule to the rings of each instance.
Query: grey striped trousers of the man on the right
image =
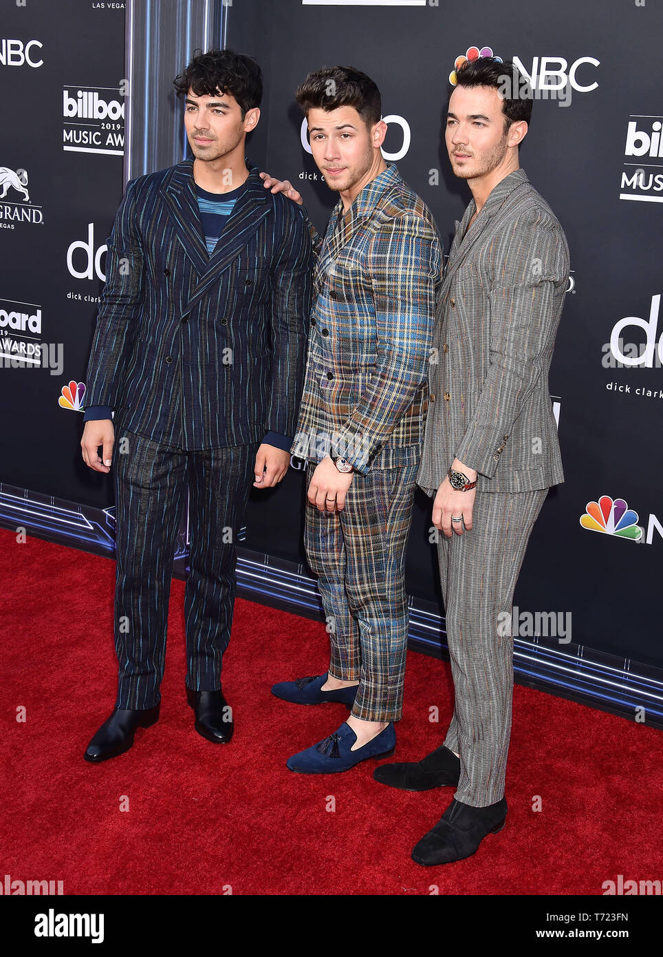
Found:
[[[454,679],[454,716],[444,744],[460,755],[454,796],[477,808],[504,796],[511,736],[513,613],[524,551],[548,489],[477,491],[471,531],[438,537],[439,579]]]

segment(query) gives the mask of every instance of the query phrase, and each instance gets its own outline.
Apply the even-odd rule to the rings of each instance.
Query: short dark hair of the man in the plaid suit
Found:
[[[329,113],[339,106],[353,106],[369,127],[379,122],[382,115],[380,91],[370,77],[353,66],[315,70],[299,87],[295,99],[307,115],[310,109]]]

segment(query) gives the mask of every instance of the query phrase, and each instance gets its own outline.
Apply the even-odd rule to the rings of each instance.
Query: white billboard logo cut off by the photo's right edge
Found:
[[[620,199],[663,203],[663,116],[631,114],[626,130]]]

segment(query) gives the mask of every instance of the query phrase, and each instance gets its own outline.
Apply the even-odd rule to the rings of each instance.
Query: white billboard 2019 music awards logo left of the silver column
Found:
[[[62,148],[70,153],[124,155],[124,98],[118,86],[65,86]]]

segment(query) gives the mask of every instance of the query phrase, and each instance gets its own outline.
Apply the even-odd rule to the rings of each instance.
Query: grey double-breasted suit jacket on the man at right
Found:
[[[564,481],[548,371],[568,281],[567,238],[517,169],[465,210],[442,280],[417,483],[435,494],[454,456],[478,491]]]

